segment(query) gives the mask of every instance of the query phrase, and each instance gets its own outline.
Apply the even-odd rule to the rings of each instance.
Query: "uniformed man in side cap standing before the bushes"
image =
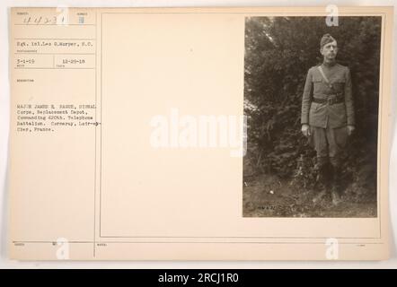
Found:
[[[318,183],[321,191],[313,202],[327,194],[327,166],[331,163],[332,204],[340,203],[341,152],[348,135],[354,131],[355,118],[350,71],[336,63],[337,41],[330,34],[322,36],[322,65],[309,69],[302,100],[302,133],[317,152]]]

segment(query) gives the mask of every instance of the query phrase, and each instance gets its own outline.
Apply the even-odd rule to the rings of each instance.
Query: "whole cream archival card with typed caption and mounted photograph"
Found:
[[[389,256],[391,7],[15,7],[9,255]]]

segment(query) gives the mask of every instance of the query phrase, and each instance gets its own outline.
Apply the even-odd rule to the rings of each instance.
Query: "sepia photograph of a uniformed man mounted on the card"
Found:
[[[376,217],[382,18],[247,17],[244,217]]]

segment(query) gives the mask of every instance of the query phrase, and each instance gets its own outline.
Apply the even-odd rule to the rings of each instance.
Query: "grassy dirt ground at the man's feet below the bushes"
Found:
[[[313,204],[315,190],[297,188],[292,181],[272,175],[244,178],[244,217],[376,217],[376,193],[349,185],[342,202],[331,203],[331,195]]]

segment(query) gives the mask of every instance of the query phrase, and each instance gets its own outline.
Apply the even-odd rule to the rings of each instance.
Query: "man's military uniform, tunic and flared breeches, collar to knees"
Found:
[[[337,157],[346,145],[346,126],[355,125],[350,71],[339,64],[322,64],[309,69],[304,84],[301,124],[310,125],[318,157]],[[330,86],[331,84],[331,86]]]

